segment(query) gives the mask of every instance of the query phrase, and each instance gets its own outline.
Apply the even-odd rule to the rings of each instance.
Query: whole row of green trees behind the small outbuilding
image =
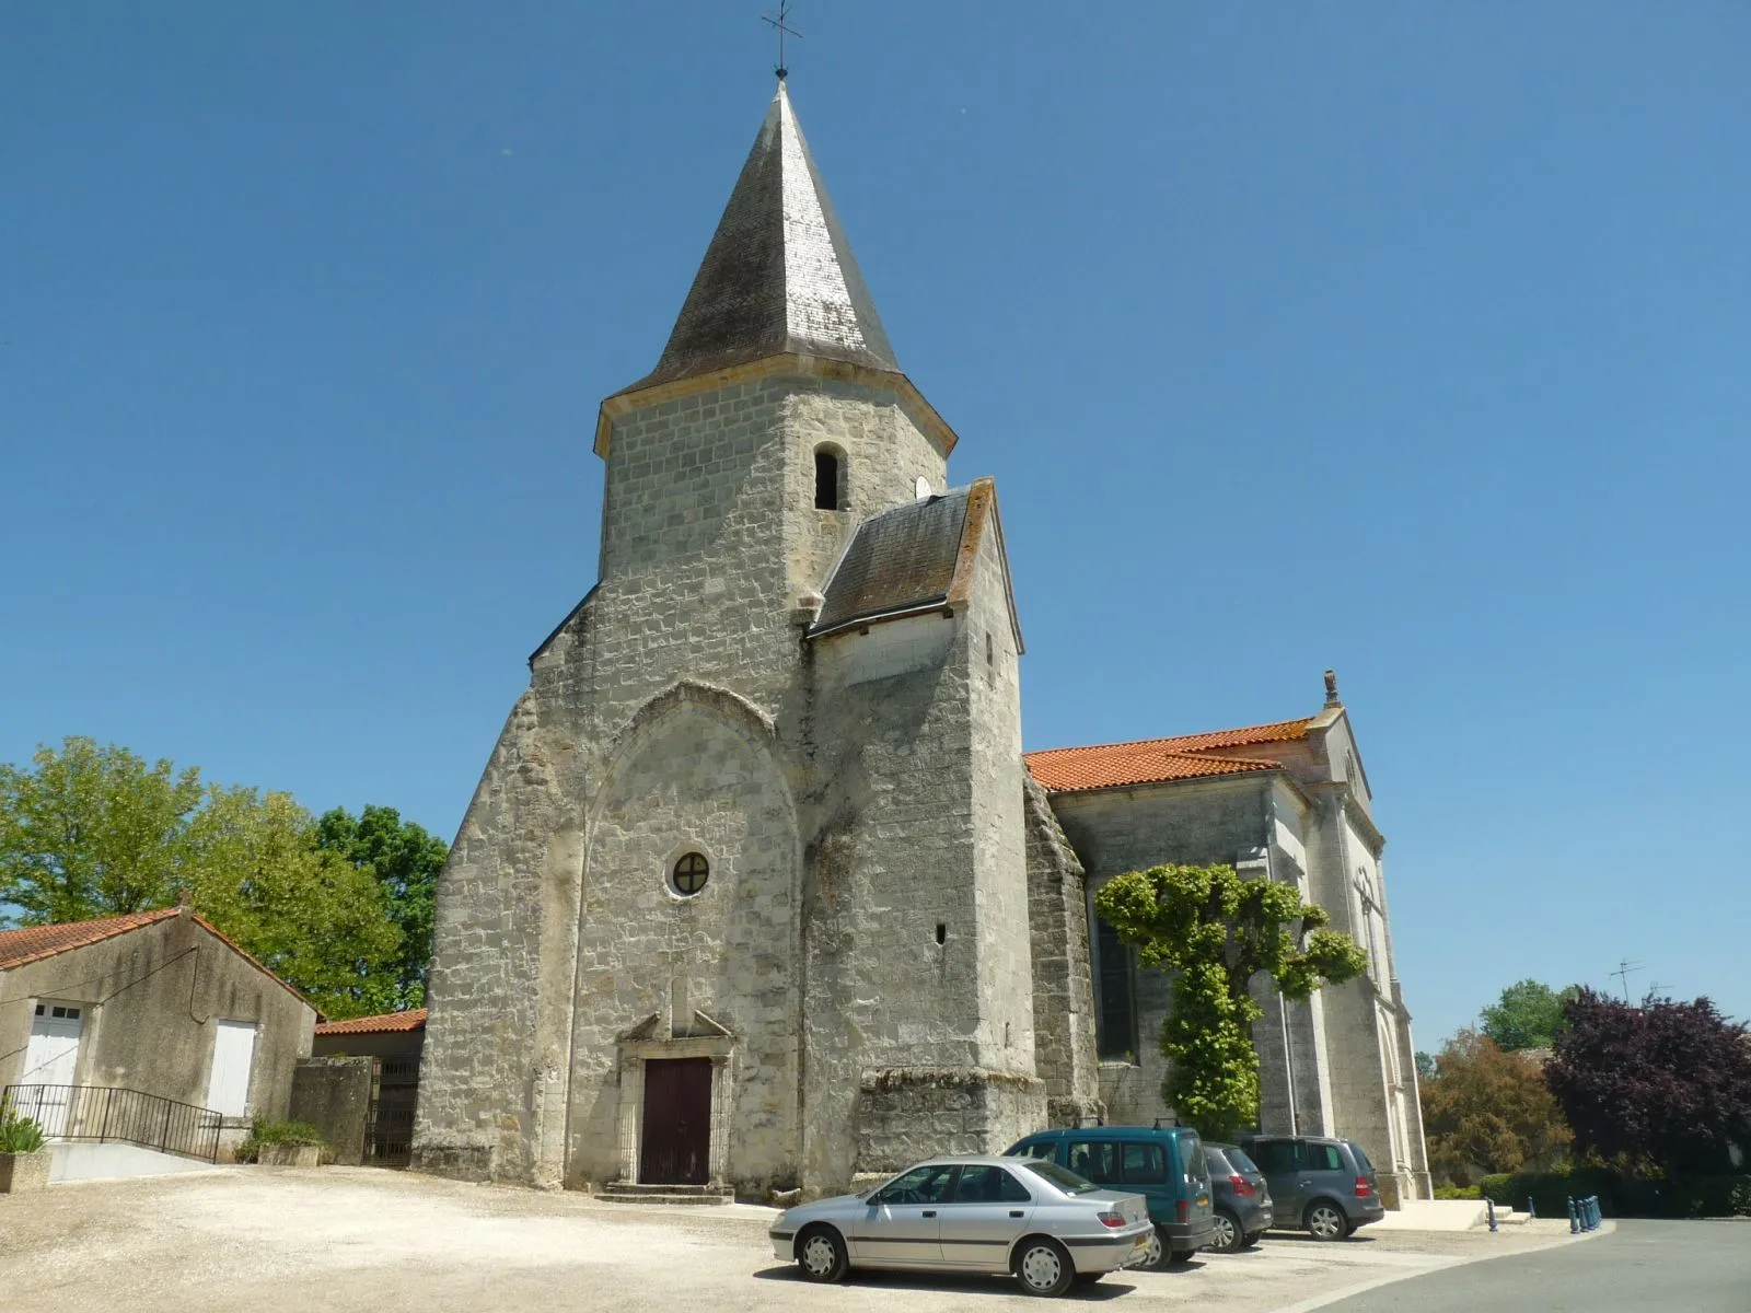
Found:
[[[418,933],[424,916],[431,942],[429,882],[424,912],[418,900],[438,840],[390,809],[366,816],[355,846],[380,854],[385,879],[320,844],[317,823],[284,793],[203,786],[194,767],[67,739],[37,749],[28,769],[0,765],[0,907],[47,924],[170,907],[187,893],[327,1015],[387,1012],[406,996],[403,924]]]

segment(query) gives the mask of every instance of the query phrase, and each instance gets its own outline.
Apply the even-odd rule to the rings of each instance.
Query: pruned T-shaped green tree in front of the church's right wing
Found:
[[[1350,937],[1326,928],[1322,907],[1304,905],[1292,884],[1241,879],[1233,867],[1133,870],[1101,886],[1094,909],[1143,966],[1177,973],[1161,1022],[1161,1094],[1210,1138],[1259,1117],[1252,1024],[1264,1010],[1250,993],[1254,977],[1264,973],[1285,998],[1301,1000],[1368,970]]]

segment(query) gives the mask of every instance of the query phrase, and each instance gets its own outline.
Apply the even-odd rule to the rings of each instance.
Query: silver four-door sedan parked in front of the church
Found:
[[[1140,1194],[1014,1157],[937,1157],[867,1194],[800,1204],[769,1232],[811,1281],[851,1267],[1014,1273],[1033,1295],[1142,1262],[1154,1227]]]

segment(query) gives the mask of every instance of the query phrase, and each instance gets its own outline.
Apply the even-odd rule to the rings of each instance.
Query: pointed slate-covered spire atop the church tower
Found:
[[[669,345],[632,387],[781,352],[900,369],[783,82]]]

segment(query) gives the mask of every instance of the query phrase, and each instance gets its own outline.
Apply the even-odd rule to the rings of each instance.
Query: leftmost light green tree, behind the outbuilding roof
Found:
[[[0,765],[0,905],[44,924],[173,903],[200,804],[200,770],[91,739]]]

